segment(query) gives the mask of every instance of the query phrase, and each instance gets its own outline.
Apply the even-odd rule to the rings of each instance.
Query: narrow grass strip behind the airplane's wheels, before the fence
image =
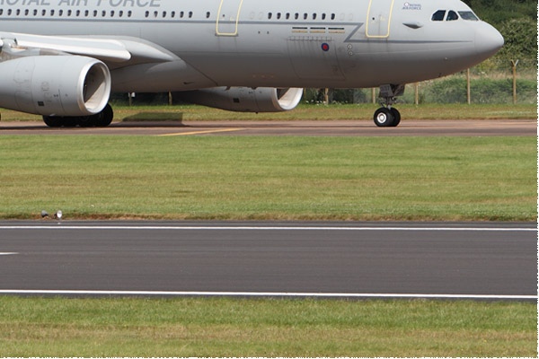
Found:
[[[395,105],[402,118],[410,119],[522,119],[537,118],[536,104],[517,105],[463,105],[463,104],[411,104]],[[378,105],[306,105],[296,109],[278,113],[238,113],[220,109],[209,109],[195,105],[181,106],[133,106],[114,105],[115,120],[370,120]],[[41,118],[36,115],[23,114],[2,109],[2,121],[28,121]]]

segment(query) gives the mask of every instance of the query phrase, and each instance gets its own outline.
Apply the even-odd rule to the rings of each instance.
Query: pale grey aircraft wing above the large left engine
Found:
[[[0,32],[0,46],[2,43],[11,43],[13,51],[39,50],[41,55],[64,53],[93,57],[112,68],[168,62],[178,58],[152,42],[128,37],[41,36]]]

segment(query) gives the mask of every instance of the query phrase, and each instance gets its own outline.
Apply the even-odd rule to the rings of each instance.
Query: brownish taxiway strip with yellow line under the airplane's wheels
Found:
[[[138,136],[537,136],[535,119],[413,120],[378,128],[372,121],[115,122],[104,128],[49,128],[43,122],[0,122],[1,135]]]

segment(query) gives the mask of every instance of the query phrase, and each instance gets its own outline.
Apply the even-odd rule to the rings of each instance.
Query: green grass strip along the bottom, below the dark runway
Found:
[[[0,297],[0,356],[536,356],[517,302]]]

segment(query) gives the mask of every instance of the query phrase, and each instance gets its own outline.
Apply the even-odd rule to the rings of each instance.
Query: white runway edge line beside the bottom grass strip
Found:
[[[459,300],[537,300],[537,295],[482,294],[390,294],[390,293],[279,293],[279,292],[168,292],[168,291],[84,291],[84,290],[16,290],[3,289],[0,294],[33,295],[140,295],[140,296],[228,296],[285,298],[357,298],[357,299],[459,299]]]

